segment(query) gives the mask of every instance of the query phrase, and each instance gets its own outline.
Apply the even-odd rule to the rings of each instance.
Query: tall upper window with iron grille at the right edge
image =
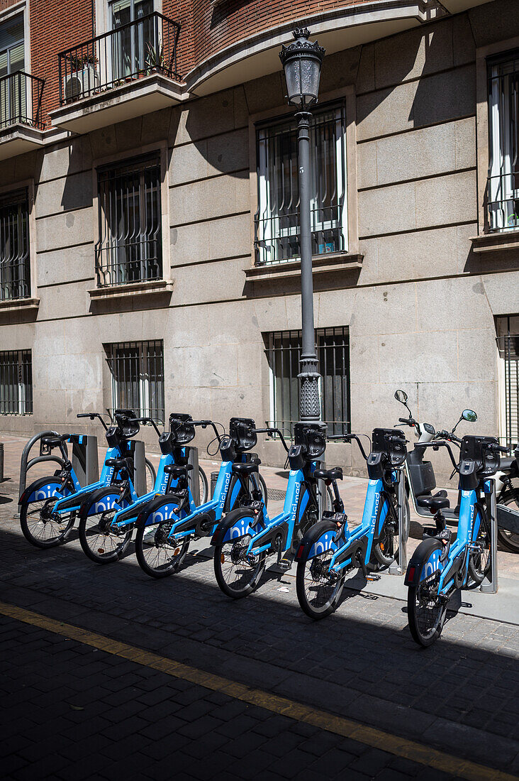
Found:
[[[519,226],[519,51],[489,61],[489,230]]]

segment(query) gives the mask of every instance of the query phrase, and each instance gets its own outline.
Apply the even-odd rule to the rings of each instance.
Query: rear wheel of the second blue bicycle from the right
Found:
[[[296,591],[301,609],[318,621],[330,615],[343,593],[346,573],[330,569],[334,551],[323,551],[297,563]]]

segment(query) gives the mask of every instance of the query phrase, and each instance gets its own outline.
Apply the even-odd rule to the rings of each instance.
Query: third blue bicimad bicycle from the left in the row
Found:
[[[140,567],[147,575],[162,578],[178,572],[186,558],[191,540],[212,535],[222,512],[267,501],[267,489],[258,475],[259,459],[247,461],[247,451],[254,448],[251,435],[254,420],[231,418],[229,435],[222,435],[211,420],[189,421],[182,433],[183,441],[194,436],[194,426],[212,426],[222,455],[215,491],[207,502],[195,507],[187,484],[187,469],[176,472],[177,489],[151,501],[137,516],[135,551]],[[191,437],[192,438],[192,437]]]

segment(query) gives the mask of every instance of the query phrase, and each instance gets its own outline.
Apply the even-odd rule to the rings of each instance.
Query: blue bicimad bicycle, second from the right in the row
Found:
[[[336,609],[347,572],[361,569],[366,579],[379,580],[380,576],[368,572],[394,561],[400,525],[407,530],[409,522],[409,506],[400,491],[407,458],[403,432],[373,430],[368,456],[357,434],[329,439],[357,441],[368,464],[369,483],[361,523],[350,531],[337,489],[337,480],[343,478],[342,469],[336,466],[315,472],[319,480],[332,484],[334,501],[333,510],[323,512],[322,520],[304,535],[296,555],[297,599],[311,619],[323,619]]]

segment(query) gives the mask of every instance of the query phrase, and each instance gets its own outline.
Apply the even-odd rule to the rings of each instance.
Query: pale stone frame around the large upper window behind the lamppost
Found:
[[[347,251],[333,253],[322,253],[314,255],[315,258],[336,257],[341,255],[357,255],[359,252],[358,242],[358,213],[357,213],[357,131],[355,123],[355,91],[354,85],[350,84],[340,90],[325,92],[319,97],[318,108],[325,108],[325,104],[343,102],[345,107],[345,146],[346,146],[346,172],[347,187],[344,210],[347,220]],[[331,106],[330,106],[331,107]],[[255,215],[260,206],[258,198],[258,156],[256,132],[257,126],[261,123],[267,123],[268,120],[290,119],[295,109],[293,106],[276,106],[268,111],[259,112],[249,116],[249,180],[251,185],[251,266],[256,266],[255,240]],[[283,269],[283,264],[290,262],[282,260],[275,263],[268,263],[268,268]],[[258,267],[258,266],[256,266]]]

